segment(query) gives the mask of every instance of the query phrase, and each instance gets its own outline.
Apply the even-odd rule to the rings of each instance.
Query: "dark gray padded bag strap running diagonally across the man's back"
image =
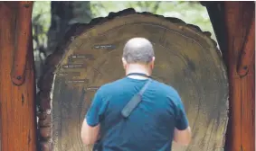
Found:
[[[139,91],[139,93],[135,94],[130,101],[126,104],[126,106],[121,111],[122,116],[124,118],[128,118],[128,116],[131,114],[132,111],[135,110],[139,102],[142,101],[142,95],[147,90],[148,85],[151,83],[152,79],[148,79],[147,83],[144,84],[142,89]]]

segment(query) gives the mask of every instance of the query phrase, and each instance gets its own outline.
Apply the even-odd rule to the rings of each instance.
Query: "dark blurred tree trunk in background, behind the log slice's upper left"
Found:
[[[52,54],[71,24],[87,23],[91,20],[90,1],[52,2],[52,24],[48,31],[48,51]]]

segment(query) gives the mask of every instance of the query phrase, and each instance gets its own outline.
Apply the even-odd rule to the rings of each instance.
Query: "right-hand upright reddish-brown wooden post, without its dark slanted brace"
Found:
[[[254,2],[224,2],[223,15],[228,46],[223,51],[223,56],[226,59],[230,84],[230,120],[226,138],[228,151],[255,150],[255,57],[248,65],[246,76],[237,73],[240,56],[244,51],[243,44],[255,42],[252,38],[246,39],[254,20],[254,5]],[[251,50],[255,50],[255,45]]]

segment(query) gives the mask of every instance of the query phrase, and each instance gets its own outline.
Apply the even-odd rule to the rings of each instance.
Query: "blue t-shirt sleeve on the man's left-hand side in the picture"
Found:
[[[90,109],[87,111],[86,120],[87,124],[91,127],[97,126],[102,120],[106,104],[102,100],[101,94],[98,91],[95,93],[94,98],[91,102]]]

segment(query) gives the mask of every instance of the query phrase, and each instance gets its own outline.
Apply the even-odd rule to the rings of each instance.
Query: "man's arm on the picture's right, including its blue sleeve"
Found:
[[[191,129],[186,118],[184,105],[181,101],[177,106],[176,116],[174,140],[178,144],[187,146],[191,140]]]

